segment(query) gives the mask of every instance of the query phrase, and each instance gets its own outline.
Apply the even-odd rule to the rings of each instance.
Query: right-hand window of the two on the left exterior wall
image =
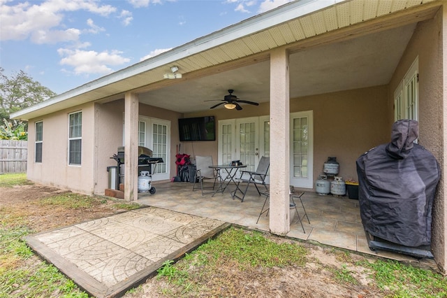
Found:
[[[82,152],[82,112],[68,115],[68,164],[80,165]]]

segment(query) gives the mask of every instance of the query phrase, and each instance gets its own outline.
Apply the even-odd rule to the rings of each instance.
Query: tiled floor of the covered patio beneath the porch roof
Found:
[[[232,199],[230,190],[233,189],[231,187],[223,194],[217,192],[214,196],[212,194],[202,196],[200,189],[193,192],[193,183],[154,183],[154,187],[156,187],[155,194],[141,192],[138,194],[140,204],[221,220],[249,229],[259,229],[267,232],[270,230],[267,213],[261,215],[258,224],[256,224],[265,197],[260,197],[254,187],[249,189],[242,203],[238,199]],[[305,192],[302,201],[309,216],[310,224],[305,218],[302,219],[302,224],[305,227],[304,233],[297,216],[295,216],[295,220],[291,224],[291,231],[286,235],[288,237],[316,241],[328,246],[393,260],[422,262],[430,267],[437,267],[434,260],[418,260],[398,253],[369,250],[360,219],[358,200],[356,199]],[[298,201],[296,203],[300,207]],[[298,213],[301,216],[304,214],[302,208],[298,208]]]

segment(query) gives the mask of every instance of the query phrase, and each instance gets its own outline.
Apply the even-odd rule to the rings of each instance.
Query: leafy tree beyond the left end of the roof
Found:
[[[24,71],[6,76],[0,67],[0,123],[14,113],[54,97],[56,93],[33,80]]]

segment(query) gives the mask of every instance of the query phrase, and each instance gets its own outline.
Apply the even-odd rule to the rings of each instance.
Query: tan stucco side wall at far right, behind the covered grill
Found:
[[[445,9],[445,8],[444,8]],[[444,14],[446,15],[446,14]],[[444,16],[446,17],[446,16]],[[393,79],[390,81],[389,110],[393,111],[393,92],[413,61],[419,60],[419,143],[432,152],[444,169],[444,105],[442,71],[442,10],[432,20],[420,22],[402,55]],[[446,46],[446,45],[444,45]],[[393,114],[389,115],[394,120]],[[444,138],[442,137],[444,136]],[[446,218],[444,201],[444,176],[441,176],[437,196],[434,199],[432,221],[432,250],[439,267],[445,268]]]

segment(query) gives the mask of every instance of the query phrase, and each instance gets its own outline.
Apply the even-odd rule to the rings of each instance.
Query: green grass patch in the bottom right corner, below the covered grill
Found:
[[[360,262],[371,270],[370,276],[388,297],[447,297],[447,279],[433,271],[401,264],[393,260]]]

